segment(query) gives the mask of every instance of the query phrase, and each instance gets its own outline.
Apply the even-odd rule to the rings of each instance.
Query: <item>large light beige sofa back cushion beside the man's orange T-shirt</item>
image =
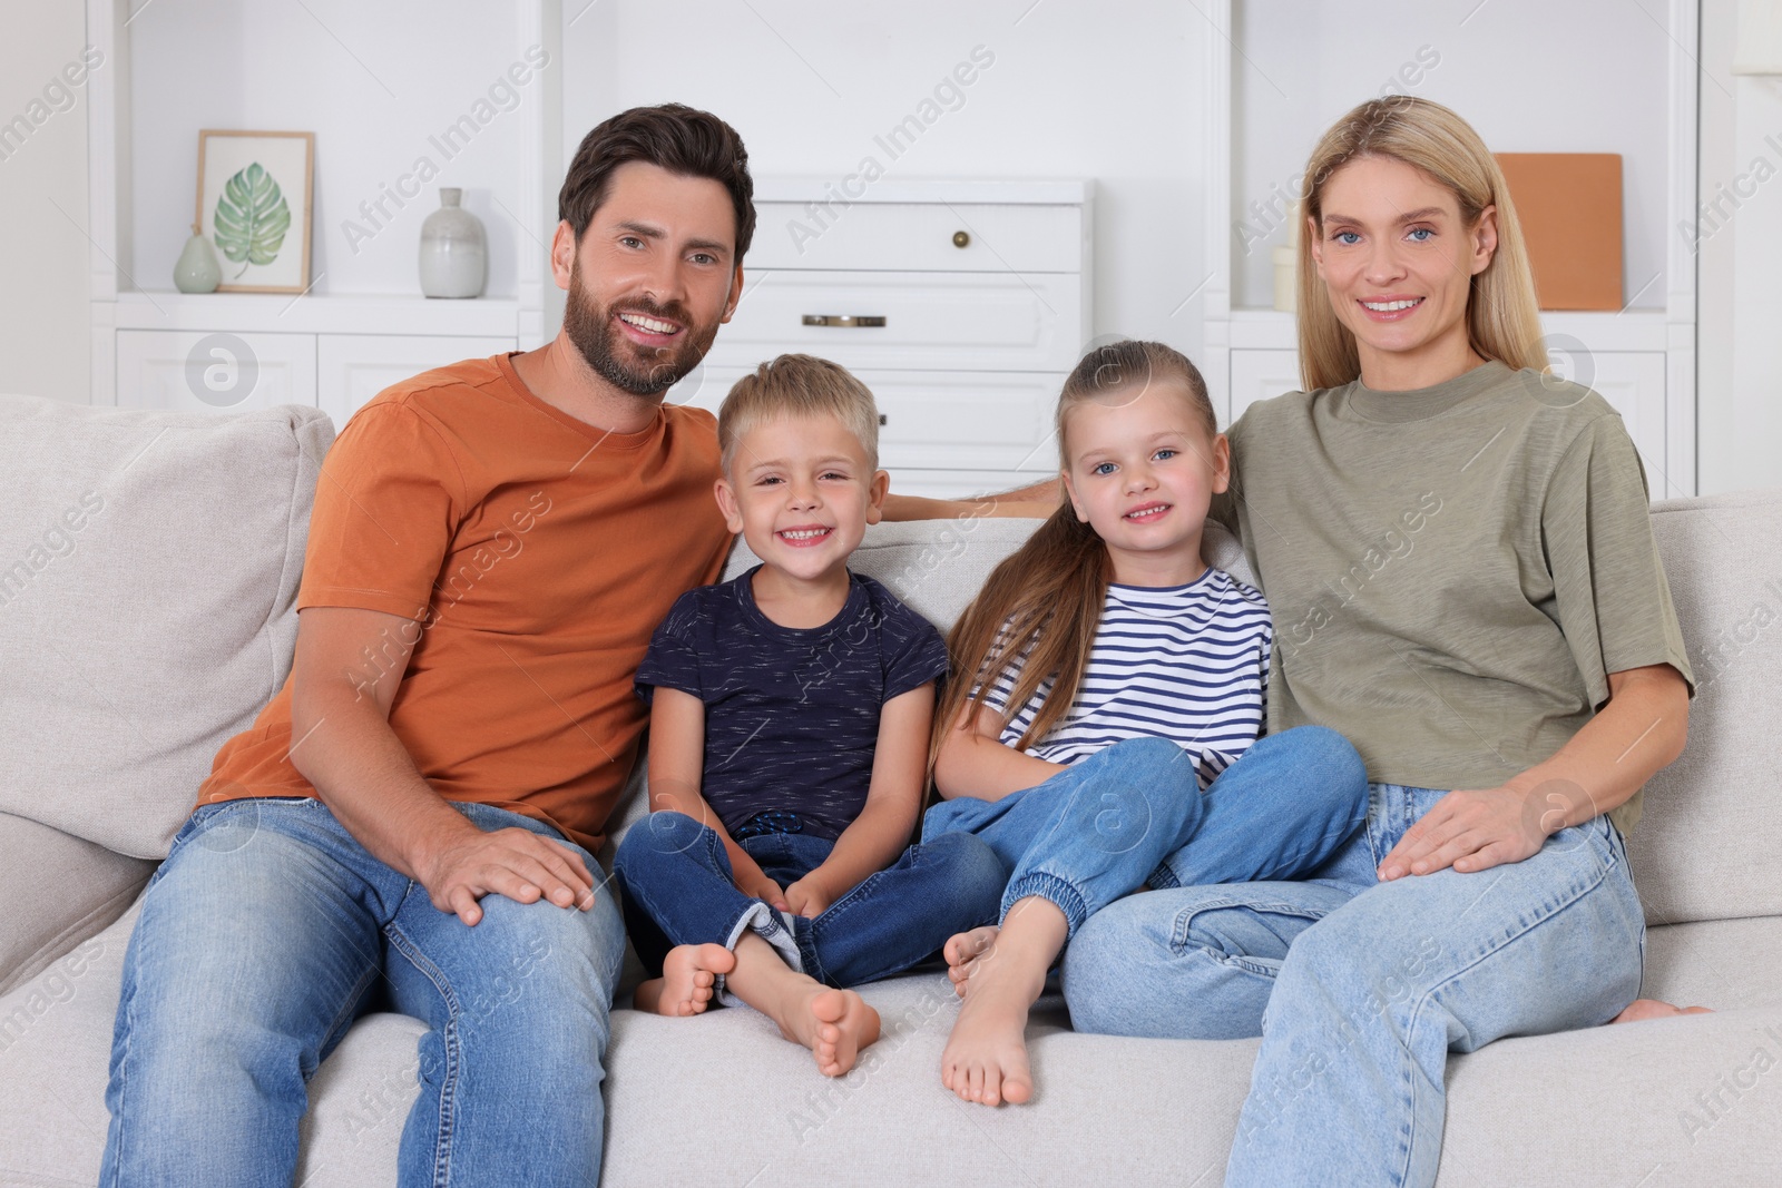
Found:
[[[333,426],[0,397],[0,810],[143,858],[290,670]]]

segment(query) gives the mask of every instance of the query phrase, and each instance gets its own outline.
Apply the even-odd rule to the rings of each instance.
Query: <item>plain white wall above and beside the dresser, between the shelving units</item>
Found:
[[[964,105],[887,176],[1096,178],[1094,331],[1199,351],[1183,299],[1206,276],[1199,64],[1215,34],[1192,4],[563,0],[563,20],[565,160],[613,112],[679,100],[736,126],[757,176],[839,180],[985,46],[996,61]]]

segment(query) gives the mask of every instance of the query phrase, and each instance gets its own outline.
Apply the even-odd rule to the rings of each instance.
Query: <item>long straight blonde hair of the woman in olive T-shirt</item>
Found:
[[[1486,207],[1497,207],[1497,251],[1472,278],[1467,337],[1472,349],[1506,367],[1547,370],[1534,273],[1522,239],[1509,187],[1484,141],[1465,119],[1440,103],[1394,94],[1361,103],[1338,119],[1306,162],[1299,219],[1299,378],[1306,392],[1335,388],[1361,376],[1354,335],[1338,321],[1312,260],[1313,224],[1324,223],[1324,187],[1361,157],[1388,157],[1418,169],[1454,192],[1470,228]]]

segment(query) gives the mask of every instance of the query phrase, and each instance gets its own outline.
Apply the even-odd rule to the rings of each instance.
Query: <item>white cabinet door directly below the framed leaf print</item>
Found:
[[[118,404],[203,411],[315,403],[315,337],[118,331]]]

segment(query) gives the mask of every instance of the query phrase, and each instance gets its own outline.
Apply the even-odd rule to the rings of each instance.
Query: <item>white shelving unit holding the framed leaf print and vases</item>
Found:
[[[258,383],[223,406],[317,404],[340,426],[388,383],[544,338],[556,224],[545,176],[561,175],[547,148],[561,110],[560,7],[447,0],[435,16],[454,32],[421,50],[406,18],[376,5],[87,0],[87,39],[107,62],[87,84],[96,404],[217,406],[192,390],[189,360],[210,335],[230,335]],[[540,53],[545,66],[535,66]],[[515,75],[524,84],[504,73],[515,62],[531,66]],[[433,134],[465,116],[472,123],[460,126],[474,126],[474,139],[453,141],[447,155]],[[305,294],[171,290],[200,128],[317,134]],[[438,175],[406,203],[385,198],[422,157]],[[421,223],[442,185],[465,189],[488,230],[483,297],[421,296]],[[372,221],[362,203],[380,198]],[[369,242],[344,233],[349,219],[376,232]],[[228,344],[217,358],[235,367],[235,354]]]

